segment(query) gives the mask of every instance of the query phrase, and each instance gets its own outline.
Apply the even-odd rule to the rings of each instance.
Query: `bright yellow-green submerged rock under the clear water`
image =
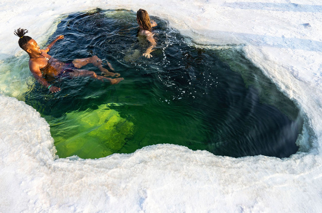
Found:
[[[52,127],[57,134],[55,145],[64,147],[59,149],[64,150],[63,153],[57,153],[60,157],[105,157],[117,152],[124,146],[126,139],[133,136],[134,124],[105,104],[87,112],[66,113],[60,121],[61,124]]]

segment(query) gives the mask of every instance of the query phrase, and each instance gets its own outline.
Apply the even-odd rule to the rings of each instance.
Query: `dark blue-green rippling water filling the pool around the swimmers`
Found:
[[[51,125],[60,157],[98,158],[159,143],[232,157],[289,157],[298,150],[299,111],[291,101],[279,109],[265,103],[277,97],[269,79],[261,77],[260,87],[245,85],[218,51],[190,46],[166,21],[151,19],[158,24],[151,59],[141,56],[147,43],[136,37],[132,11],[74,13],[58,25],[48,43],[65,38],[50,55],[64,62],[97,55],[125,79],[113,86],[90,78],[57,79],[57,94],[31,85],[26,103]],[[92,65],[84,68],[100,74]],[[263,93],[272,87],[274,92]]]

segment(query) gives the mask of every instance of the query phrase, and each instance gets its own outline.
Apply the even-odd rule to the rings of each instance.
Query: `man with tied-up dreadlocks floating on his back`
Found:
[[[91,63],[94,66],[97,66],[99,70],[106,76],[118,77],[120,75],[118,73],[109,72],[107,69],[103,68],[102,62],[97,56],[75,59],[72,61],[71,64],[66,64],[48,55],[47,52],[56,43],[56,41],[64,38],[63,35],[59,35],[45,49],[40,49],[37,42],[33,40],[31,37],[26,36],[26,33],[28,33],[28,30],[21,28],[14,31],[14,35],[17,35],[19,37],[19,46],[29,55],[29,69],[31,73],[40,84],[48,88],[51,92],[58,92],[60,91],[60,88],[49,84],[48,81],[44,78],[44,76],[48,76],[49,78],[62,76],[90,76],[101,81],[104,81],[104,79],[108,80],[111,84],[117,84],[121,80],[124,80],[123,78],[107,78],[105,76],[97,76],[96,73],[93,71],[79,69],[82,66]],[[112,70],[114,70],[110,66],[110,64],[108,65]]]

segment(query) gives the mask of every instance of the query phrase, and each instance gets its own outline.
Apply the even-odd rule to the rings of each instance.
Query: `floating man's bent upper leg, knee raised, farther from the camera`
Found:
[[[82,66],[85,66],[87,64],[93,64],[94,66],[98,67],[102,73],[104,73],[104,76],[115,76],[115,77],[120,76],[119,73],[112,73],[112,72],[109,72],[107,69],[105,69],[102,65],[102,60],[99,59],[99,57],[97,56],[75,59],[72,61],[72,63],[76,68],[81,68]],[[110,63],[108,63],[108,66],[111,70],[114,70]]]

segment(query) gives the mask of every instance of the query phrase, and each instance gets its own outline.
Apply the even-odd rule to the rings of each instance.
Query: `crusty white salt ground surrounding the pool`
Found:
[[[320,211],[320,1],[5,0],[0,6],[0,63],[25,54],[14,29],[27,28],[44,43],[62,14],[96,7],[145,8],[198,44],[240,45],[305,113],[298,144],[308,150],[286,159],[231,158],[156,145],[95,160],[54,160],[45,120],[0,96],[0,211]]]

